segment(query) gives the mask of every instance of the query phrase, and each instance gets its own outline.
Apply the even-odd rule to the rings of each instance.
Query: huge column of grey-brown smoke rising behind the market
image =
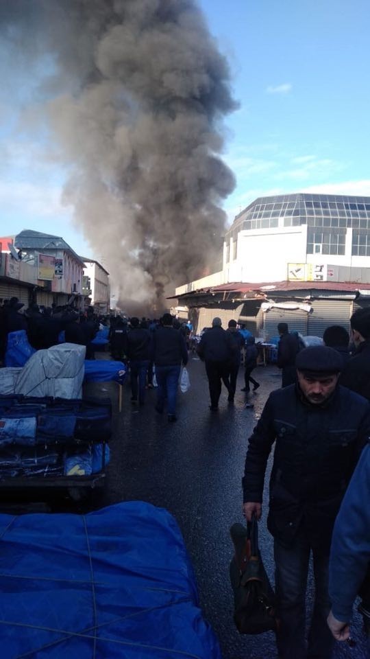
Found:
[[[199,8],[12,0],[0,20],[25,62],[52,57],[42,109],[69,171],[64,200],[121,305],[168,306],[175,286],[220,258],[221,203],[234,188],[219,157],[222,119],[236,107],[230,73]]]

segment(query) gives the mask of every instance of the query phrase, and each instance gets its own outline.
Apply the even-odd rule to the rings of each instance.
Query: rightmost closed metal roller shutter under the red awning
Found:
[[[308,336],[323,336],[330,325],[342,325],[349,331],[352,308],[351,300],[313,300],[313,312],[308,316]]]

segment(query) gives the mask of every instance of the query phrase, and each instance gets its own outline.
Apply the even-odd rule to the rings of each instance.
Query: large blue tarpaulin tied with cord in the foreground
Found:
[[[1,659],[221,659],[166,510],[0,514],[0,543]]]

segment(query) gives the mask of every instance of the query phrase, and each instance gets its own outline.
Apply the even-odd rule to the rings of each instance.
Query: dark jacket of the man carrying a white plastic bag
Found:
[[[151,360],[156,366],[184,366],[188,363],[188,351],[180,329],[158,327],[153,332]]]

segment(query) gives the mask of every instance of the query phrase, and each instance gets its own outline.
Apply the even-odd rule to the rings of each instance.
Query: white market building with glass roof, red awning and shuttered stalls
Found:
[[[260,197],[225,234],[223,269],[175,297],[198,332],[217,315],[264,338],[280,321],[321,336],[333,323],[348,327],[356,306],[370,302],[369,256],[370,197]]]

